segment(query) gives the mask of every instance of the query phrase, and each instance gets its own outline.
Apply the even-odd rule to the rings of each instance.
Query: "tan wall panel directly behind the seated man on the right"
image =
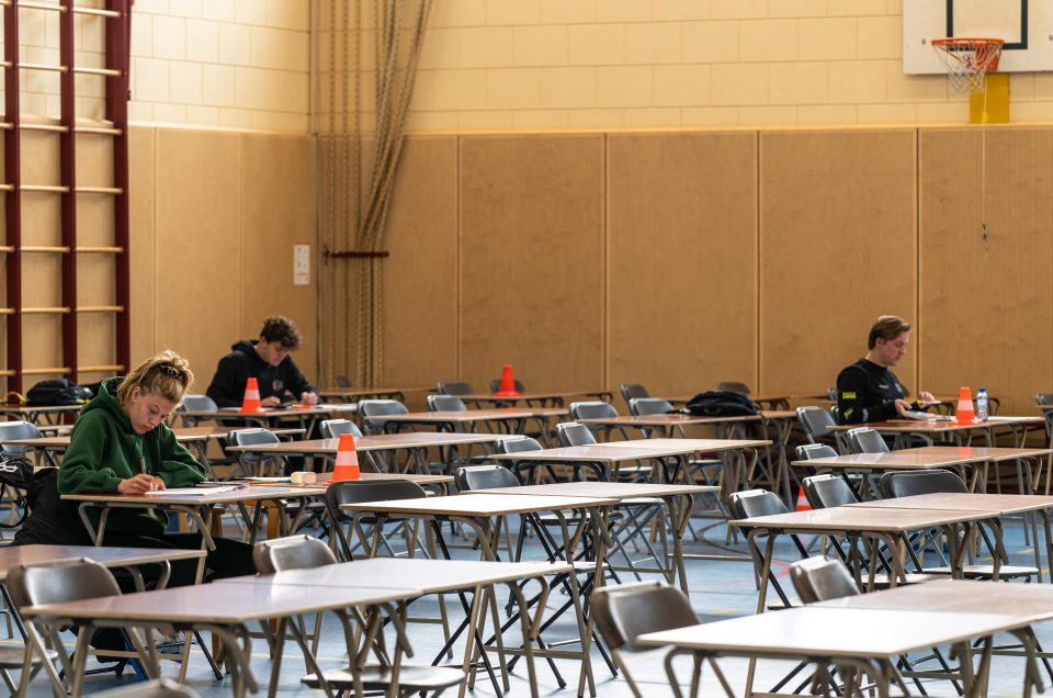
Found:
[[[874,318],[915,319],[915,153],[914,130],[761,133],[761,392],[825,393]]]

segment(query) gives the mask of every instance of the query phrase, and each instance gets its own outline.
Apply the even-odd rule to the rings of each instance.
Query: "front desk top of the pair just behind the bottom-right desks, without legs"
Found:
[[[894,509],[881,507],[831,507],[811,511],[791,511],[729,521],[739,528],[781,528],[795,531],[874,531],[903,532],[933,526],[990,519],[994,509]]]

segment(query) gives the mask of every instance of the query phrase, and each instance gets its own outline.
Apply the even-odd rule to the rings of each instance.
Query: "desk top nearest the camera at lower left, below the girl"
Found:
[[[252,584],[202,584],[139,594],[29,606],[30,616],[100,618],[129,622],[212,623],[237,626],[252,620],[283,618],[421,596],[420,589],[327,587],[325,594],[271,584],[258,577]]]

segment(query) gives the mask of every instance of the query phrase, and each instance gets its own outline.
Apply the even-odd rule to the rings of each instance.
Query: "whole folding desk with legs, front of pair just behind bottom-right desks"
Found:
[[[906,543],[906,533],[932,528],[942,529],[947,533],[952,574],[954,576],[961,576],[965,547],[959,544],[956,532],[962,530],[965,533],[963,539],[967,540],[967,534],[974,521],[992,519],[997,516],[997,511],[989,509],[970,511],[847,506],[737,519],[729,521],[729,525],[747,530],[747,542],[760,579],[760,593],[757,597],[757,612],[759,613],[765,610],[769,583],[775,589],[775,593],[779,594],[782,603],[790,606],[789,597],[782,590],[779,581],[771,574],[775,537],[778,536],[795,533],[838,536],[852,541],[853,544],[850,550],[853,552],[857,549],[854,541],[861,538],[875,539],[876,541],[885,543],[891,553],[888,563],[891,564],[893,574],[890,575],[890,583],[895,585],[897,581],[906,579],[903,560],[908,555],[915,565],[920,568],[914,550]],[[767,536],[768,538],[763,551],[761,551],[757,544],[757,538],[761,536]],[[801,552],[802,556],[804,556],[803,549]],[[860,566],[854,554],[852,563],[856,579],[860,582]],[[878,545],[871,545],[871,560],[869,565],[871,587],[873,586],[876,563]],[[995,578],[997,578],[998,564],[999,561],[996,560]]]

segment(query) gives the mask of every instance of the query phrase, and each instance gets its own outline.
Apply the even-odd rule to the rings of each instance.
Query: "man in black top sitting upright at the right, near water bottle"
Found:
[[[867,338],[867,356],[837,376],[841,424],[895,419],[937,402],[930,393],[918,393],[918,399],[908,401],[906,389],[891,371],[906,356],[908,344],[910,325],[902,317],[882,315],[874,322]]]

